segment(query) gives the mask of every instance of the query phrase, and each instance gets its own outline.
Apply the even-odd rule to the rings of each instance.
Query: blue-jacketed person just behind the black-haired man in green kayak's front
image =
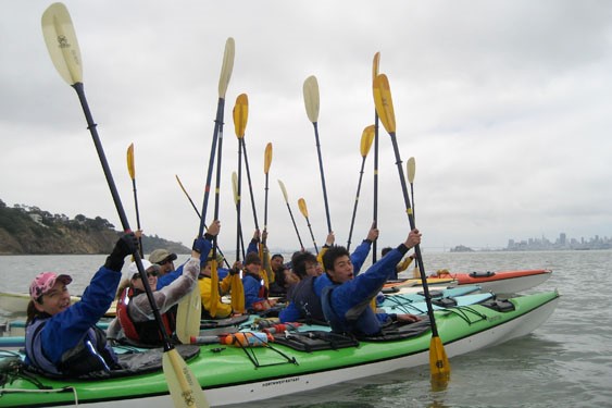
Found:
[[[353,254],[350,255],[351,264],[353,265],[353,273],[357,275],[367,255],[372,243],[378,238],[379,231],[374,224],[370,227],[367,236],[355,248]],[[334,235],[329,234],[322,249],[323,256],[329,248],[334,248]],[[320,264],[316,257],[310,252],[302,252],[304,255],[296,255],[295,259],[291,258],[293,270],[298,275],[303,275],[301,281],[289,289],[287,307],[280,311],[278,318],[282,322],[296,322],[307,320],[310,322],[325,324],[325,316],[321,305],[321,295],[325,286],[329,286],[332,282],[326,274],[320,272],[316,265]],[[310,254],[310,257],[307,255]],[[303,270],[302,270],[303,269]]]

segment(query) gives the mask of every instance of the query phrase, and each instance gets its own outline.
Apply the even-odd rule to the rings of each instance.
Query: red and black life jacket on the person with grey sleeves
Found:
[[[161,344],[163,341],[163,334],[160,333],[160,327],[158,326],[158,322],[155,320],[135,322],[129,316],[129,301],[133,297],[140,294],[145,294],[145,292],[127,287],[123,290],[118,298],[116,313],[121,327],[123,329],[123,333],[130,341],[140,344]],[[173,307],[168,309],[161,317],[166,333],[174,333],[176,329],[176,308]]]

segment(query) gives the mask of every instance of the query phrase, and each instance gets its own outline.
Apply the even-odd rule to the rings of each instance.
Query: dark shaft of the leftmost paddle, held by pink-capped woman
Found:
[[[98,136],[98,129],[96,122],[93,122],[93,118],[91,116],[91,111],[89,110],[89,104],[87,103],[87,99],[85,98],[85,90],[83,83],[75,83],[72,87],[76,90],[78,95],[78,100],[80,101],[80,106],[83,108],[83,112],[85,113],[85,119],[87,121],[87,128],[89,133],[91,133],[91,138],[93,139],[93,145],[96,146],[96,151],[98,152],[98,158],[100,159],[100,163],[102,164],[102,170],[104,171],[104,176],[107,177],[107,183],[109,185],[109,189],[111,190],[111,195],[113,197],[113,202],[115,205],[121,225],[125,232],[132,231],[129,227],[129,223],[127,222],[127,217],[125,215],[125,210],[121,202],[121,198],[118,196],[115,182],[113,180],[113,175],[111,173],[111,169],[109,168],[109,162],[107,161],[107,156],[104,154],[104,149],[102,148],[102,143],[100,141],[100,137]],[[136,262],[136,267],[138,272],[145,276],[145,267],[142,265],[142,259],[140,258],[140,254],[136,250],[134,254],[134,261]],[[162,317],[160,314],[160,310],[153,298],[153,292],[149,285],[148,280],[141,280],[142,286],[145,287],[145,293],[147,294],[147,298],[151,304],[151,309],[153,310],[153,316],[155,318],[155,322],[158,323],[158,329],[163,337],[163,346],[165,351],[170,351],[174,349],[174,346],[170,342],[168,334],[165,330],[165,326],[162,321]]]

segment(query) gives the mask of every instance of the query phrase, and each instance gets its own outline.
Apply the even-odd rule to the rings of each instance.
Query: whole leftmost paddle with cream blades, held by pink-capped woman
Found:
[[[130,231],[129,223],[127,222],[125,210],[121,202],[111,169],[109,168],[100,137],[98,136],[96,123],[93,122],[89,104],[87,103],[87,99],[85,97],[80,50],[78,48],[76,34],[66,7],[62,3],[53,3],[49,5],[42,14],[41,25],[45,42],[47,44],[47,49],[49,50],[53,65],[64,81],[76,90],[87,121],[87,127],[89,128],[91,138],[93,139],[93,145],[96,146],[98,158],[102,164],[107,184],[111,190],[111,196],[121,220],[121,224],[123,230],[128,232]],[[145,276],[146,272],[138,250],[134,252],[134,261],[136,262],[138,272]],[[153,293],[149,286],[149,282],[147,280],[142,280],[142,286],[145,287],[147,298],[151,304],[151,309],[153,310],[158,329],[160,330],[160,333],[162,333],[164,349],[163,371],[175,407],[208,407],[209,404],[204,396],[204,392],[198,383],[198,380],[189,367],[187,367],[178,351],[174,348],[174,345],[170,342],[168,334],[165,331],[160,311],[153,298]]]

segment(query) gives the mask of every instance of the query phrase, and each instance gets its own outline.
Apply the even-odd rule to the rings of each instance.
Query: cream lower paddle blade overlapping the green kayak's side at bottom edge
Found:
[[[176,348],[164,351],[162,367],[176,408],[209,408],[209,401],[198,379],[191,372]]]

